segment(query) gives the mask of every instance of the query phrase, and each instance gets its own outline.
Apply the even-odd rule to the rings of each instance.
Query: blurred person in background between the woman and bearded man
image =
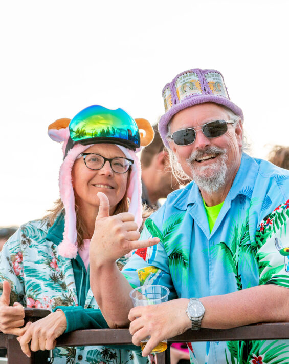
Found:
[[[178,189],[180,184],[172,174],[168,152],[165,150],[158,126],[154,125],[153,130],[153,141],[141,154],[142,202],[157,210],[161,206],[159,198],[166,198],[169,193]]]

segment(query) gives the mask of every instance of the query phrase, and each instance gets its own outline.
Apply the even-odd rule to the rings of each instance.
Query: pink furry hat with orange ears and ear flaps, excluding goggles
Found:
[[[138,120],[139,123],[138,123]],[[51,139],[63,142],[62,151],[64,155],[64,160],[59,170],[59,190],[60,198],[63,202],[65,209],[64,217],[64,232],[63,240],[58,246],[58,252],[61,256],[65,258],[76,258],[77,256],[77,231],[76,231],[76,212],[75,212],[75,198],[74,190],[72,187],[72,167],[76,158],[83,153],[87,148],[90,148],[95,143],[107,143],[107,141],[102,140],[101,142],[92,141],[92,144],[82,145],[80,143],[75,143],[69,150],[67,150],[68,141],[70,139],[70,129],[69,123],[70,119],[63,118],[58,119],[56,122],[49,126],[48,135]],[[138,124],[141,146],[148,145],[153,139],[153,129],[149,122],[145,119],[136,119]],[[140,125],[139,125],[140,124]],[[152,133],[151,133],[152,131]],[[152,137],[151,137],[152,136]],[[109,143],[112,143],[110,140]],[[135,221],[138,227],[142,225],[142,184],[141,184],[141,166],[140,160],[135,151],[114,143],[120,148],[124,155],[134,160],[134,164],[131,165],[131,172],[129,176],[129,183],[127,188],[127,197],[129,199],[129,209],[128,212],[135,216]],[[137,152],[140,148],[137,150]],[[65,155],[66,154],[66,155]]]

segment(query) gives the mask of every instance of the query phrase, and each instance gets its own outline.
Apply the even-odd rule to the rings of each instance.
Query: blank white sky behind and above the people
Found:
[[[190,68],[223,73],[252,155],[288,144],[287,0],[1,4],[0,226],[40,218],[58,198],[50,123],[100,104],[154,124],[163,86]]]

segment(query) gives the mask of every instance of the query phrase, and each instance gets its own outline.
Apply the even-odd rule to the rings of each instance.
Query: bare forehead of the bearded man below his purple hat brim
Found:
[[[177,112],[169,123],[172,134],[176,130],[197,127],[213,120],[229,120],[229,112],[224,107],[214,103],[204,103],[191,106]]]

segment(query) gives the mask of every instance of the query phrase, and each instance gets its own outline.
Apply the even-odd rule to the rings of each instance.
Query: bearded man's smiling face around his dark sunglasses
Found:
[[[221,106],[204,103],[184,109],[174,115],[170,132],[197,128],[194,143],[179,146],[170,141],[184,172],[196,181],[199,189],[216,192],[220,187],[231,187],[241,161],[242,125],[228,124],[228,131],[216,138],[207,138],[198,127],[214,120],[229,120]]]

